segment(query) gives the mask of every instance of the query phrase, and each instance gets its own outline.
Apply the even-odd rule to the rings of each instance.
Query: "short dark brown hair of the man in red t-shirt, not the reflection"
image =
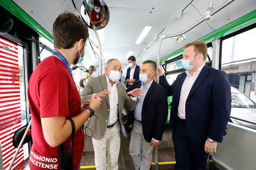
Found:
[[[71,12],[60,14],[53,23],[54,48],[69,49],[80,39],[86,42],[88,37],[85,23]]]

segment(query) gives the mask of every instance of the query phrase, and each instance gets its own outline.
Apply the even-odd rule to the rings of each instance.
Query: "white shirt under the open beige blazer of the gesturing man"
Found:
[[[109,106],[110,106],[110,111],[109,111],[109,119],[108,119],[108,126],[113,125],[114,123],[117,122],[118,120],[118,93],[117,93],[117,82],[111,86],[109,82],[109,78],[105,74],[106,79],[107,79],[107,89],[109,90],[110,94],[108,95],[109,97]]]

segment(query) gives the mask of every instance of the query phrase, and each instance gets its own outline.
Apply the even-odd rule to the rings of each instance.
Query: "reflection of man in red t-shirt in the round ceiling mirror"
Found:
[[[91,23],[97,28],[104,20],[104,15],[100,12],[100,1],[93,0],[93,8],[90,11]]]

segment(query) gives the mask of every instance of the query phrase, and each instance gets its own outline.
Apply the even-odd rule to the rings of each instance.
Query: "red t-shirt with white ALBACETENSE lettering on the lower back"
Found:
[[[76,85],[61,60],[53,56],[48,57],[35,68],[29,80],[28,100],[32,114],[33,138],[29,167],[31,170],[59,169],[59,149],[46,143],[41,118],[71,118],[81,112],[81,99]],[[71,137],[64,142],[67,155],[70,142]],[[74,170],[78,169],[83,149],[84,133],[83,130],[78,130],[73,141]]]

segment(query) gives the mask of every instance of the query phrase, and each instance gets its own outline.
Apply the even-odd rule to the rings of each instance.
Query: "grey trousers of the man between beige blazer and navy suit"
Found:
[[[142,124],[137,120],[133,123],[131,132],[130,155],[135,170],[149,170],[152,161],[153,147],[144,139]]]

